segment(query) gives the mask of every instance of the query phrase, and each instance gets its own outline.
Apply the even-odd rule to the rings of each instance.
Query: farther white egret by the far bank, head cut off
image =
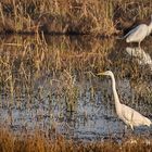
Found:
[[[134,29],[131,29],[127,35],[123,37],[126,38],[126,42],[138,42],[140,46],[140,42],[151,34],[152,31],[152,15],[151,15],[151,23],[149,25],[147,24],[140,24]]]

